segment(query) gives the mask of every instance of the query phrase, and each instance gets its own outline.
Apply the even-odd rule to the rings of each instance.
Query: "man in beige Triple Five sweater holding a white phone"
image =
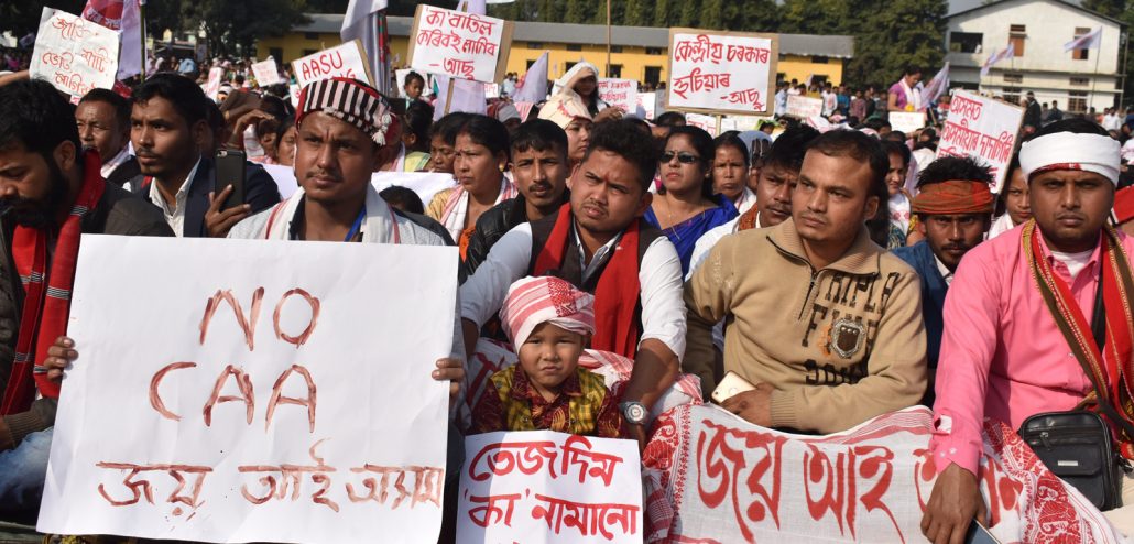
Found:
[[[723,372],[754,389],[721,406],[750,423],[845,431],[925,391],[917,274],[871,241],[886,153],[854,130],[807,145],[792,219],[725,237],[685,286],[684,369],[711,397]],[[723,368],[712,328],[725,321]]]

